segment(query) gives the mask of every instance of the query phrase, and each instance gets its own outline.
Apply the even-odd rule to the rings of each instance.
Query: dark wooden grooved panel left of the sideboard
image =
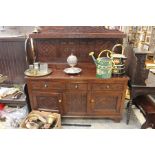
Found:
[[[9,84],[23,84],[27,68],[25,38],[0,38],[0,73],[7,75]]]

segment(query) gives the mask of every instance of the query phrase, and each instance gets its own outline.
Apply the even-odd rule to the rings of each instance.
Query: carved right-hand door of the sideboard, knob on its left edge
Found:
[[[121,94],[119,92],[97,92],[90,93],[88,112],[92,114],[118,114],[121,109]]]

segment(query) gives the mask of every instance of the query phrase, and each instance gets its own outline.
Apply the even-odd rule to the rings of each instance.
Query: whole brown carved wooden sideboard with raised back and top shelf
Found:
[[[31,34],[34,51],[28,51],[36,61],[47,62],[52,74],[45,77],[26,77],[31,108],[61,113],[63,117],[111,118],[120,121],[128,77],[96,78],[96,66],[89,57],[102,49],[112,49],[122,43],[125,35],[115,30],[95,27],[50,27]],[[30,43],[27,44],[27,49]],[[67,75],[63,72],[67,57],[78,58],[82,72]],[[32,58],[32,59],[31,59]]]

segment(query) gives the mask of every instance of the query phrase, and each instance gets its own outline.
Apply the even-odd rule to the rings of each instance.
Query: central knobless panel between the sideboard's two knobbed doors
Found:
[[[81,92],[65,92],[63,94],[64,115],[82,115],[87,112],[87,93]]]

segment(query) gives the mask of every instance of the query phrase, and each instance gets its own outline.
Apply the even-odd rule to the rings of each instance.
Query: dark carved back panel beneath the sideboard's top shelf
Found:
[[[111,50],[115,44],[122,43],[122,39],[36,39],[35,52],[36,61],[49,63],[66,63],[67,57],[73,53],[77,56],[78,62],[91,62],[89,56],[91,51],[95,57],[103,49]],[[105,54],[103,54],[105,56]]]

